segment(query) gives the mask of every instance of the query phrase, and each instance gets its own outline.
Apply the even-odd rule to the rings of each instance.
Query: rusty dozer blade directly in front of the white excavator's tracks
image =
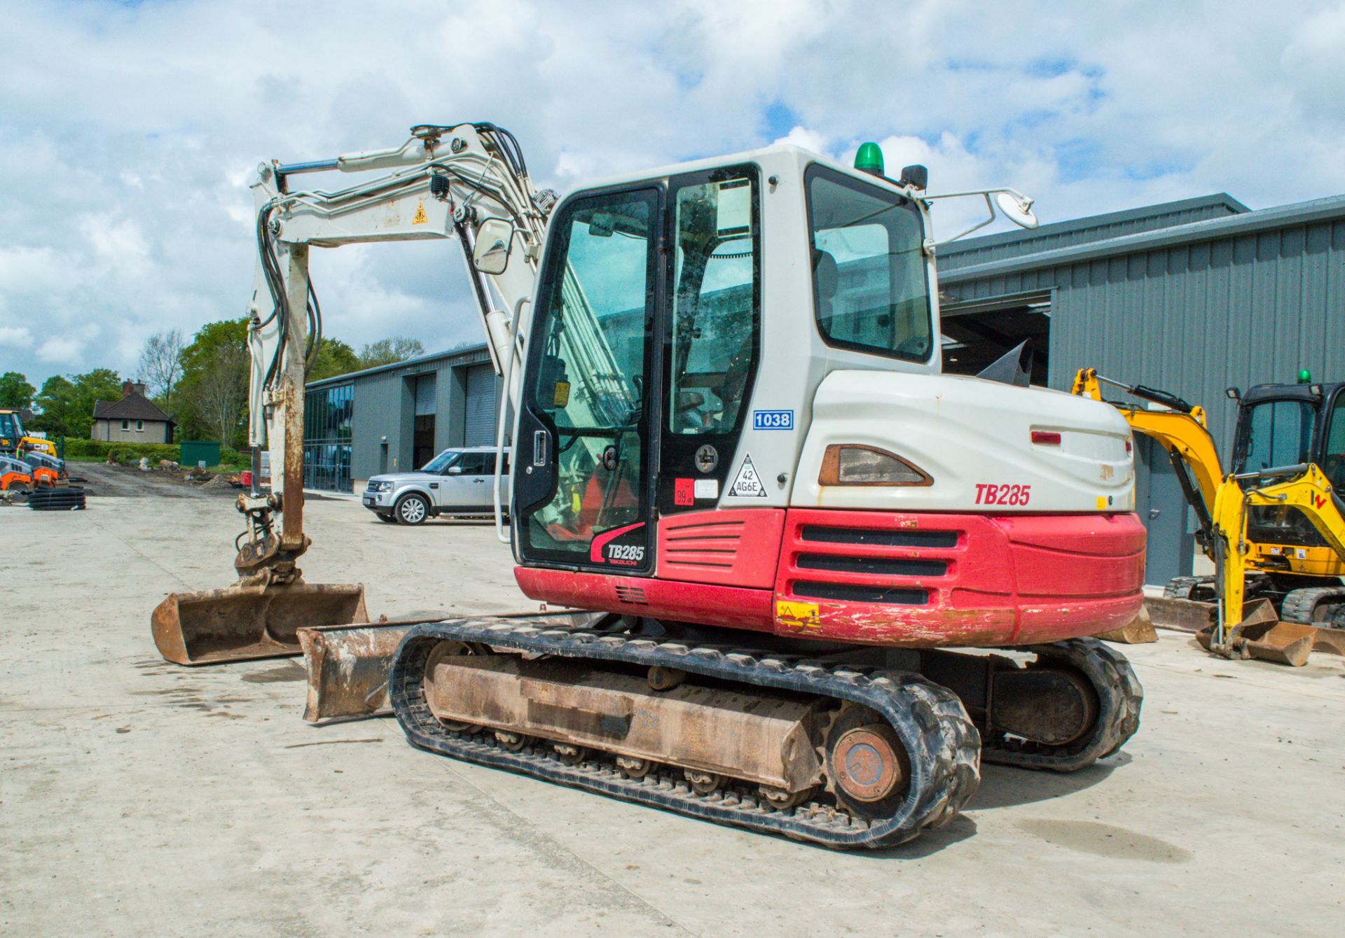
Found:
[[[494,618],[506,622],[535,618],[542,628],[585,629],[592,628],[603,615],[604,613],[562,609],[549,613],[510,613]],[[308,671],[304,719],[317,723],[387,711],[387,675],[402,637],[414,625],[440,621],[445,620],[301,626],[299,644],[304,649],[304,667]]]

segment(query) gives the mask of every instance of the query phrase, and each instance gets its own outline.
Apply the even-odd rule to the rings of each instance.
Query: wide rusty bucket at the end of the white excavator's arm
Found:
[[[369,622],[363,583],[172,593],[151,617],[159,653],[187,665],[295,656],[301,652],[300,626],[356,622]]]

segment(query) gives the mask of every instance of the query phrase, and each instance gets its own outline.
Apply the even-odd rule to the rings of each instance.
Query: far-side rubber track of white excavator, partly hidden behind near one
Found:
[[[1044,664],[1059,663],[1081,671],[1098,692],[1098,722],[1091,734],[1065,746],[985,739],[982,759],[1020,769],[1077,771],[1115,753],[1139,730],[1145,688],[1126,656],[1096,638],[1071,638],[1022,650],[1036,652]]]

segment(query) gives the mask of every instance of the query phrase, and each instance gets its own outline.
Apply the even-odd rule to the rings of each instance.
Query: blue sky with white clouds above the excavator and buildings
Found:
[[[1342,3],[12,0],[0,60],[0,371],[35,384],[129,376],[151,333],[241,314],[260,160],[420,122],[507,126],[561,191],[788,138],[877,140],[935,191],[1010,184],[1042,220],[1345,192]],[[356,347],[477,339],[455,247],[324,251],[313,274]]]

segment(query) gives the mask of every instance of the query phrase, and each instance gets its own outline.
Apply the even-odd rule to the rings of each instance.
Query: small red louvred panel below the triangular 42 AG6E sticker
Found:
[[[780,558],[783,508],[686,512],[659,520],[659,579],[768,590]]]

